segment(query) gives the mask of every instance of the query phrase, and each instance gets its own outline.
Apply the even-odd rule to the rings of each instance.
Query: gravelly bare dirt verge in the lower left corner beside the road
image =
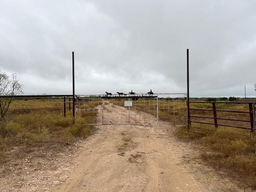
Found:
[[[0,191],[47,191],[65,182],[77,165],[73,160],[84,142],[76,138],[72,143],[45,144],[29,148],[28,152],[13,147],[0,164]]]

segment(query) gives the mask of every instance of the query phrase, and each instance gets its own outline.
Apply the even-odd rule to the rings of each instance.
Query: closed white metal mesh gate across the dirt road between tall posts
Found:
[[[177,125],[187,123],[186,94],[76,96],[76,118],[86,124]]]

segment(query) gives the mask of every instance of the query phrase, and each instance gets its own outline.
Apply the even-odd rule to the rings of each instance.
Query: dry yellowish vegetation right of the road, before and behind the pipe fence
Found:
[[[158,99],[159,119],[170,120],[175,114],[178,118],[186,118],[186,101]],[[192,98],[191,101],[242,101],[252,102],[254,98]],[[114,100],[115,105],[124,106],[124,100]],[[178,104],[180,111],[178,111]],[[212,109],[212,103],[191,103],[190,108]],[[217,110],[248,111],[248,104],[216,104]],[[156,116],[156,101],[140,99],[133,101],[132,110],[139,110]],[[191,110],[190,115],[213,117],[212,111]],[[217,112],[217,117],[250,120],[247,113]],[[214,119],[192,118],[200,122],[214,123]],[[215,128],[214,125],[192,123],[190,129],[177,126],[176,136],[185,142],[196,144],[200,151],[200,158],[208,165],[218,171],[225,172],[228,176],[235,178],[246,186],[256,188],[256,136],[250,132],[250,122],[238,122],[230,120],[218,120],[219,124],[248,127],[248,130],[223,127]]]

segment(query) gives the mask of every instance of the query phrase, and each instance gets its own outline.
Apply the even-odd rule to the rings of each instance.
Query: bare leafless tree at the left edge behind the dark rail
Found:
[[[22,94],[23,85],[17,80],[16,74],[8,76],[5,72],[0,71],[0,95],[19,95]],[[0,98],[0,115],[3,119],[6,115],[12,98]]]

